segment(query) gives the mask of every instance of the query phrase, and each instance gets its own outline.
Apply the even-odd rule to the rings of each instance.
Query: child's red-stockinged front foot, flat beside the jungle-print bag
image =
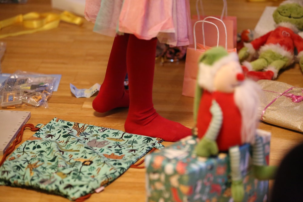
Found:
[[[180,123],[161,117],[155,110],[150,116],[128,116],[125,121],[125,132],[160,137],[164,141],[176,142],[191,135],[191,129]]]

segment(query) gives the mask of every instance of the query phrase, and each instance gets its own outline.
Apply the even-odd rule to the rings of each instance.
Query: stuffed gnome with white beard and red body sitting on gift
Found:
[[[238,55],[223,47],[205,51],[198,68],[194,116],[195,134],[200,141],[195,152],[202,157],[217,155],[219,151],[229,153],[232,197],[235,202],[242,201],[239,146],[252,145],[256,178],[272,179],[275,173],[275,167],[263,163],[263,145],[258,137],[261,88],[245,79]]]

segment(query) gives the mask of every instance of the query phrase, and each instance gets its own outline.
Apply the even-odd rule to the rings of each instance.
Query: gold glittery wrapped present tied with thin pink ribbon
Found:
[[[261,120],[303,132],[303,88],[279,81],[257,82],[265,94],[261,98]]]

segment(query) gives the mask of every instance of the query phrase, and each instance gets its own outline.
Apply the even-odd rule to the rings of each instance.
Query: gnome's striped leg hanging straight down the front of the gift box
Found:
[[[235,202],[241,202],[244,198],[244,185],[240,170],[240,150],[239,147],[229,149],[231,167],[231,196]]]

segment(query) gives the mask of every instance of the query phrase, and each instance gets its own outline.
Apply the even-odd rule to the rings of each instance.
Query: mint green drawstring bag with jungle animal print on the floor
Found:
[[[69,200],[92,194],[122,175],[162,139],[54,118],[0,167],[0,185],[28,187]]]

